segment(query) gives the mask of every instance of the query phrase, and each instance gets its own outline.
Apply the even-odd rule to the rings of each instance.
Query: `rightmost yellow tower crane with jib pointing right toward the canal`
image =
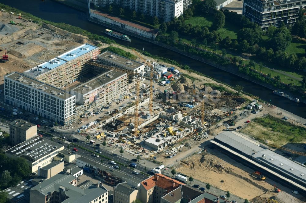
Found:
[[[194,85],[195,86],[195,85]],[[193,92],[195,91],[195,89],[193,90]],[[205,115],[205,98],[245,98],[244,96],[241,95],[221,95],[221,94],[205,94],[204,92],[200,92],[200,95],[202,96],[202,101],[201,101],[201,123],[203,125],[204,123],[204,115]],[[197,96],[200,95],[196,95],[196,94],[192,94],[192,95],[185,95],[185,94],[181,94],[182,97],[192,97],[192,98],[196,98]],[[258,96],[248,96],[250,98],[259,98]]]

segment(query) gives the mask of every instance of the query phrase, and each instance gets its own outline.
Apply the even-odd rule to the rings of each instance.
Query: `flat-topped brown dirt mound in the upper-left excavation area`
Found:
[[[42,46],[30,42],[25,45],[21,45],[16,49],[9,50],[8,53],[13,54],[18,58],[27,58],[35,53],[43,51],[44,49],[45,48],[43,48]]]

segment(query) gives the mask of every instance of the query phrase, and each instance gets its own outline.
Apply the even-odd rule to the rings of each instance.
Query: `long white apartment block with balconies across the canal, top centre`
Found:
[[[149,16],[157,16],[168,22],[175,16],[180,16],[192,3],[191,0],[90,0],[96,6],[118,4],[122,8],[129,8]]]

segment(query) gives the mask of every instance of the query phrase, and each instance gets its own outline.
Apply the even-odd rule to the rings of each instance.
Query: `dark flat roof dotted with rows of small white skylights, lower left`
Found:
[[[64,145],[37,136],[17,144],[15,147],[6,150],[5,153],[35,162],[60,148],[64,148]]]

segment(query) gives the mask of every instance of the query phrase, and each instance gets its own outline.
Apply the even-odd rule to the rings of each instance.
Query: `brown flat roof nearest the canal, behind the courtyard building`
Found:
[[[98,58],[106,60],[108,62],[112,62],[112,63],[114,63],[118,66],[124,67],[126,69],[131,70],[131,71],[134,71],[135,69],[137,69],[141,66],[144,66],[143,63],[134,61],[132,59],[125,58],[121,55],[118,55],[118,54],[115,54],[115,53],[109,52],[109,51],[103,52],[102,54],[100,54],[98,56]]]

